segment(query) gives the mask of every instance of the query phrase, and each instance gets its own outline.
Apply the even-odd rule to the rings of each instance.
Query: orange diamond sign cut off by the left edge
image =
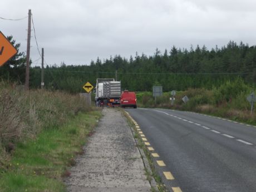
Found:
[[[0,66],[16,55],[18,51],[0,31]]]

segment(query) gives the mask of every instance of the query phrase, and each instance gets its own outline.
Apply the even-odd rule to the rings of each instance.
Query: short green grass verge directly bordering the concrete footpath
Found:
[[[0,191],[66,191],[68,166],[91,136],[101,111],[78,113],[62,127],[42,130],[36,139],[18,142],[11,160],[0,170]]]

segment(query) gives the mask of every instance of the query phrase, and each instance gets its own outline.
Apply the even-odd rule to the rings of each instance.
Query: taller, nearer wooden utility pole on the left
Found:
[[[31,38],[31,9],[28,9],[28,38],[27,38],[27,64],[26,64],[25,90],[29,90],[30,38]]]

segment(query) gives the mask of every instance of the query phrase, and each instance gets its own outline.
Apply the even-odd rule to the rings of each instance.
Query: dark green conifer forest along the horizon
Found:
[[[15,41],[14,41],[15,43]],[[17,46],[16,46],[17,47]],[[1,68],[1,77],[9,81],[24,83],[24,60],[13,58]],[[19,60],[21,62],[17,61]],[[9,67],[15,63],[14,67]],[[9,65],[9,66],[8,66]],[[83,92],[87,81],[95,85],[96,78],[115,78],[121,81],[122,89],[151,91],[153,85],[162,85],[164,91],[187,90],[188,88],[218,87],[227,80],[242,77],[245,83],[256,82],[256,46],[230,41],[227,45],[208,50],[205,46],[190,50],[171,47],[161,52],[124,58],[120,55],[105,60],[91,61],[90,65],[46,65],[45,87]],[[17,72],[19,74],[17,74]],[[8,73],[8,76],[7,76]],[[30,86],[41,86],[41,67],[30,70]]]

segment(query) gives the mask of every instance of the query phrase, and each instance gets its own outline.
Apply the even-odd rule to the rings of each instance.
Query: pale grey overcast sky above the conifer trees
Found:
[[[130,58],[136,51],[153,55],[156,48],[169,52],[173,45],[188,49],[205,45],[208,50],[230,40],[256,45],[255,0],[0,1],[0,17],[26,17],[28,9],[48,64],[89,65],[98,56]],[[0,31],[13,35],[24,52],[26,30],[27,18],[0,19]],[[35,61],[40,55],[34,37],[31,46]]]

